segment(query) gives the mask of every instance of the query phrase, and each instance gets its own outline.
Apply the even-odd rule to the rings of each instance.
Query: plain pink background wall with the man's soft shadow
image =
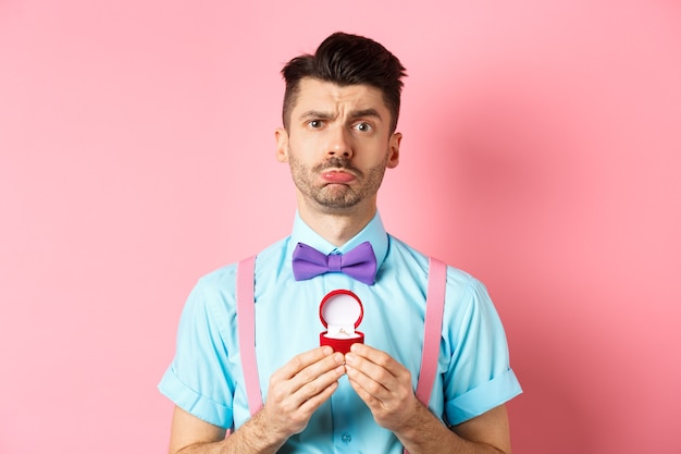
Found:
[[[488,286],[515,452],[681,452],[676,1],[0,1],[0,452],[162,453],[199,275],[289,231],[278,70],[408,68],[389,231]]]

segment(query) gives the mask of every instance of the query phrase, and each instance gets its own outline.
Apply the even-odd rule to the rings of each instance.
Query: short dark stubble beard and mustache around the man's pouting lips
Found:
[[[306,168],[296,159],[296,155],[290,148],[288,149],[288,163],[298,191],[306,198],[314,200],[320,207],[335,211],[356,207],[379,192],[387,164],[387,152],[383,162],[369,169],[367,173],[352,167],[348,159],[342,157],[332,157],[313,168]],[[330,169],[339,169],[351,173],[357,179],[356,183],[354,185],[318,183],[319,175]]]

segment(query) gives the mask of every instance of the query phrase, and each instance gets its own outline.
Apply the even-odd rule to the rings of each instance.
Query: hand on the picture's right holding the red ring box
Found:
[[[399,431],[420,406],[411,386],[411,373],[385,352],[354,344],[345,355],[345,369],[350,384],[381,427]]]

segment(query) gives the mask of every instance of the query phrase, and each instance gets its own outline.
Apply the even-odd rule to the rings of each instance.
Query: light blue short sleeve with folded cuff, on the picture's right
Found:
[[[443,329],[449,341],[449,367],[443,379],[445,416],[454,426],[504,404],[522,390],[510,368],[506,333],[485,286],[471,277],[453,280],[445,305],[449,324]]]

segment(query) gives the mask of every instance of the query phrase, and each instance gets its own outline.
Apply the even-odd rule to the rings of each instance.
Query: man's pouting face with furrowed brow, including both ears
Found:
[[[310,208],[372,208],[385,169],[398,163],[401,135],[389,128],[380,89],[304,78],[288,131],[276,131],[277,159]]]

